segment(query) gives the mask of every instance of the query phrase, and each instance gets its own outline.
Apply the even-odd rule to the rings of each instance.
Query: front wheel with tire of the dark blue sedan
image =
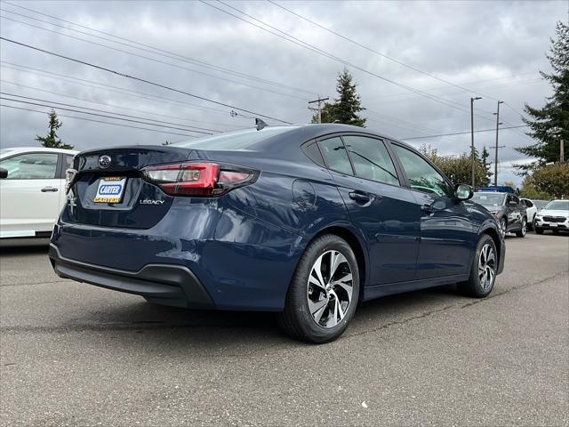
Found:
[[[472,260],[470,277],[458,284],[462,294],[484,298],[492,292],[498,270],[498,253],[493,238],[485,234],[480,238]]]

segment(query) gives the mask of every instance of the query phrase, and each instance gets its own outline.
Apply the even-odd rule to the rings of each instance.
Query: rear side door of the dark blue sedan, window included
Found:
[[[370,285],[412,280],[419,251],[420,211],[401,187],[381,139],[345,134],[318,141],[351,221],[365,236]]]

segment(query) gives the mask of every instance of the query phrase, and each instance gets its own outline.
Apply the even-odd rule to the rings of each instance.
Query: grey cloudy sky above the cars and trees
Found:
[[[483,98],[475,102],[477,130],[495,127],[498,100],[502,127],[523,125],[525,102],[542,105],[550,87],[539,70],[549,70],[544,54],[569,5],[0,4],[1,36],[20,43],[0,44],[3,148],[35,145],[36,134],[46,132],[46,106],[57,107],[60,137],[76,149],[182,141],[250,127],[259,115],[275,125],[308,123],[307,101],[333,97],[345,67],[357,82],[367,127],[445,154],[469,150],[471,96]],[[519,184],[511,165],[525,160],[513,148],[532,143],[524,131],[501,131],[499,181]],[[462,134],[417,138],[445,133]],[[493,146],[494,138],[477,133],[477,148]]]

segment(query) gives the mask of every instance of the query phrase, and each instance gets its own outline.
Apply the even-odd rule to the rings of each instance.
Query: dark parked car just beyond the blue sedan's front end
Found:
[[[527,213],[525,205],[515,194],[477,191],[472,200],[496,217],[502,235],[513,232],[518,238],[525,238]]]

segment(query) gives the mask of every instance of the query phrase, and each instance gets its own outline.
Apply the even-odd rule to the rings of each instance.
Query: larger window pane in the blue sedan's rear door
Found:
[[[365,136],[343,136],[356,175],[366,180],[399,185],[395,165],[383,141]]]

